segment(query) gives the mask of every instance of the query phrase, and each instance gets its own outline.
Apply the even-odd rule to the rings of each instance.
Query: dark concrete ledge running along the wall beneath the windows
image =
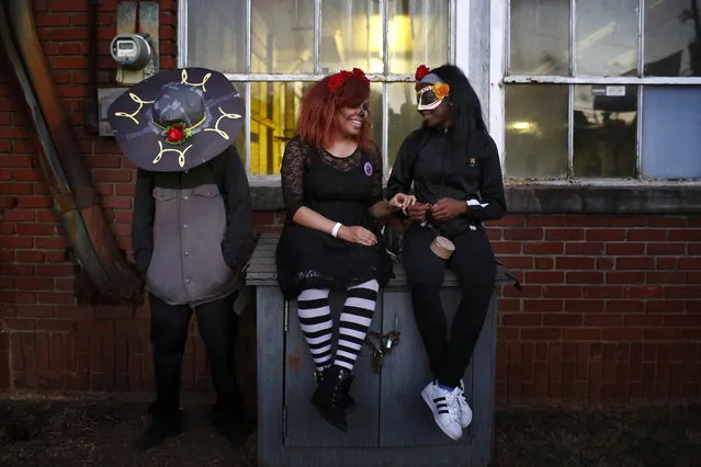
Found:
[[[701,214],[701,183],[507,184],[510,214]],[[252,184],[256,210],[282,210],[278,185]]]

